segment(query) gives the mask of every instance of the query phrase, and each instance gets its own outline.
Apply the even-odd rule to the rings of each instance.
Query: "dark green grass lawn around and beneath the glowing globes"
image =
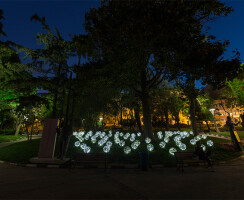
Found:
[[[220,143],[229,142],[229,140],[219,139],[219,138],[208,138],[214,142],[212,147],[212,159],[215,161],[228,161],[242,155],[241,153],[228,150],[223,148]],[[80,148],[74,146],[74,142],[77,141],[75,137],[71,138],[70,145],[67,151],[66,157],[73,158],[76,152],[81,152]],[[170,143],[169,147],[171,146]],[[168,145],[167,144],[167,145]],[[35,139],[32,141],[24,141],[15,143],[3,148],[0,148],[0,160],[13,162],[13,163],[28,163],[29,159],[32,157],[37,157],[39,151],[40,139]],[[102,152],[101,147],[93,145],[91,152]],[[142,148],[142,146],[140,146]],[[139,147],[139,148],[140,148]],[[169,148],[168,147],[168,148]],[[160,149],[158,145],[155,145],[153,152],[149,153],[149,160],[151,164],[174,164],[174,156],[168,153],[168,148],[164,150]],[[186,151],[194,151],[194,146],[189,145]],[[132,151],[129,155],[123,153],[121,147],[113,145],[109,155],[109,161],[116,164],[138,164],[139,163],[139,153],[140,149],[137,151]],[[59,154],[58,140],[56,143],[55,157]]]

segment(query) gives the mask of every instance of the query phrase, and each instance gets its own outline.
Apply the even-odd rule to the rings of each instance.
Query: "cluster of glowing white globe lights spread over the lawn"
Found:
[[[165,148],[166,146],[166,143],[169,142],[170,140],[170,137],[174,136],[174,142],[176,144],[176,146],[179,147],[179,149],[181,149],[182,151],[186,150],[187,149],[187,146],[185,144],[183,144],[181,142],[181,139],[184,139],[186,137],[189,137],[190,134],[193,134],[192,132],[187,132],[187,131],[183,131],[183,132],[180,132],[180,131],[165,131],[165,135],[162,134],[161,131],[159,131],[157,133],[157,136],[159,139],[163,139],[163,141],[159,141],[159,147],[160,148]],[[141,136],[141,133],[138,132],[137,134],[135,133],[126,133],[126,134],[123,134],[122,132],[116,132],[114,135],[112,134],[112,131],[109,131],[108,134],[106,134],[105,132],[101,132],[101,131],[97,131],[96,133],[93,133],[92,131],[89,131],[87,133],[84,133],[84,132],[73,132],[73,135],[78,139],[78,141],[76,141],[74,143],[74,146],[75,147],[79,147],[85,152],[85,153],[89,153],[91,151],[91,147],[87,146],[86,143],[84,143],[83,141],[89,141],[91,143],[96,143],[97,141],[97,144],[98,146],[102,147],[103,146],[103,151],[105,153],[108,153],[110,152],[110,149],[111,149],[111,146],[113,145],[113,142],[110,141],[110,139],[114,140],[114,143],[121,146],[121,147],[124,147],[124,153],[125,154],[129,154],[132,149],[135,150],[139,147],[140,145],[140,141],[139,140],[136,140],[136,137],[140,137]],[[122,137],[120,139],[120,137]],[[101,138],[100,140],[98,140],[99,138]],[[206,139],[207,136],[204,134],[204,135],[198,135],[198,136],[195,136],[193,139],[190,140],[190,144],[191,145],[196,145],[196,141],[199,141],[201,139]],[[126,143],[124,140],[126,139],[129,139],[129,141],[131,141],[132,143],[129,145],[129,146],[125,146]],[[129,142],[128,141],[128,142]],[[153,151],[154,150],[154,146],[153,144],[151,144],[151,139],[149,137],[147,137],[145,139],[145,142],[147,144],[147,150],[148,151]],[[208,146],[213,146],[213,141],[212,140],[208,140],[207,142],[207,145]],[[205,145],[201,145],[201,147],[203,148],[203,150],[205,151],[206,147]],[[171,155],[174,154],[174,152],[176,152],[177,150],[173,147],[171,147],[169,149],[169,153]]]

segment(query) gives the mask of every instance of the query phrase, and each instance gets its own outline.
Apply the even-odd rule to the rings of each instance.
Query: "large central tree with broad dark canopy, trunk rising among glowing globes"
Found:
[[[186,51],[210,16],[231,8],[219,1],[102,1],[86,14],[93,59],[107,63],[112,78],[142,102],[144,137],[153,137],[150,95],[153,87],[177,73],[175,54]],[[169,69],[171,68],[171,73]]]

